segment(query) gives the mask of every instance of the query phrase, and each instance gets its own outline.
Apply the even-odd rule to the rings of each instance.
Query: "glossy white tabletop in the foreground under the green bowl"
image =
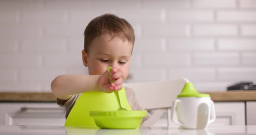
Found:
[[[73,126],[0,125],[0,135],[256,135],[256,125],[219,125],[200,130],[174,127],[88,129]]]

